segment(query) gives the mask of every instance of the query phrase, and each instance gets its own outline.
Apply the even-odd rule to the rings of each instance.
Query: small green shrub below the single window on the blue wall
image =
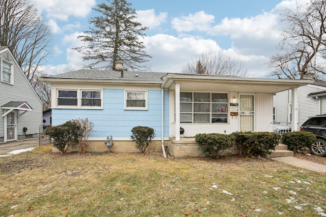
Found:
[[[149,143],[155,137],[154,129],[149,127],[137,126],[131,129],[131,139],[136,142],[136,148],[144,153]]]

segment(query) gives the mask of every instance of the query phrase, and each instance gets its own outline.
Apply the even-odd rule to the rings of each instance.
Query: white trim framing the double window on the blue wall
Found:
[[[77,91],[77,105],[67,106],[58,105],[59,90],[75,90]],[[82,91],[100,91],[101,92],[101,106],[82,106]],[[88,88],[58,88],[56,89],[56,108],[62,109],[103,109],[103,89],[88,89]]]

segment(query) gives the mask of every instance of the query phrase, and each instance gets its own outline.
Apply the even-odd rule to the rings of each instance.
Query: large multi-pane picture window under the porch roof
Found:
[[[180,92],[180,122],[226,123],[227,116],[227,94]]]

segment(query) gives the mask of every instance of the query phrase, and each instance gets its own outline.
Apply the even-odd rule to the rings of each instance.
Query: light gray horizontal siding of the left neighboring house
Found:
[[[5,52],[0,53],[0,58],[5,58]],[[28,128],[26,134],[38,134],[39,126],[42,125],[42,103],[36,92],[26,79],[17,62],[11,57],[11,63],[14,66],[14,85],[0,81],[0,106],[9,101],[24,101],[31,107],[32,111],[17,112],[17,135],[24,135],[23,127]],[[5,93],[5,94],[4,94]],[[0,109],[0,137],[4,137],[4,110]],[[42,129],[42,128],[41,128]]]

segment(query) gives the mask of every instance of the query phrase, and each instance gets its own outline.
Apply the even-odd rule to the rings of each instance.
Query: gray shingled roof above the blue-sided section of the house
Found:
[[[77,71],[73,71],[73,72],[67,72],[67,73],[63,73],[63,74],[48,76],[46,78],[162,81],[162,77],[164,77],[166,74],[167,73],[162,73],[162,72],[123,71],[123,77],[121,77],[120,71],[81,69],[81,70],[77,70]],[[138,76],[136,76],[136,75],[138,75]]]

